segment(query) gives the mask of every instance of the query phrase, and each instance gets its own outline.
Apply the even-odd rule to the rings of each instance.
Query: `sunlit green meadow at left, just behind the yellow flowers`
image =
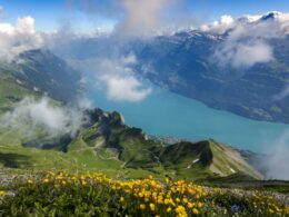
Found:
[[[13,135],[13,137],[12,137]],[[99,170],[113,177],[140,178],[153,171],[143,169],[123,168],[123,162],[112,158],[111,150],[91,149],[81,144],[80,140],[71,145],[69,152],[57,150],[41,150],[37,148],[26,148],[14,136],[16,132],[0,135],[0,170],[42,171],[49,169],[77,170]]]

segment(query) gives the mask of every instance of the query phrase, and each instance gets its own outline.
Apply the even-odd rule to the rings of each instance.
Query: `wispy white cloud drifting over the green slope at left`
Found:
[[[0,124],[1,128],[17,128],[23,134],[33,134],[42,129],[49,137],[53,137],[74,135],[81,120],[81,109],[56,106],[48,98],[24,98],[12,111],[1,117]]]

